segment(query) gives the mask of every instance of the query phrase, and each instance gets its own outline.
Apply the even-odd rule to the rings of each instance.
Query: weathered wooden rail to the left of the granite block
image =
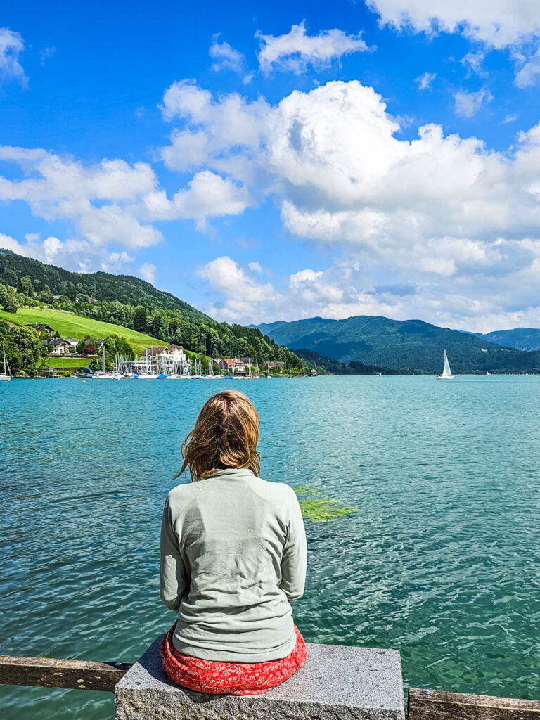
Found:
[[[94,660],[54,660],[50,657],[0,655],[0,685],[37,685],[114,692],[114,685],[131,665]]]

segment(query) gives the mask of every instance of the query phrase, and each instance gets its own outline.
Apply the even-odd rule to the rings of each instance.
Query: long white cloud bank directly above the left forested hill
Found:
[[[0,160],[22,170],[22,179],[0,176],[0,200],[27,202],[33,215],[68,220],[95,246],[143,248],[161,241],[155,220],[195,220],[238,215],[248,192],[233,179],[199,171],[169,199],[148,163],[103,160],[85,165],[47,150],[0,146]]]

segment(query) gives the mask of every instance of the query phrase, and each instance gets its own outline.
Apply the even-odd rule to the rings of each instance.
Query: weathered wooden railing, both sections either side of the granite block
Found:
[[[114,692],[125,662],[0,655],[0,685]],[[409,720],[540,720],[540,701],[409,688]]]

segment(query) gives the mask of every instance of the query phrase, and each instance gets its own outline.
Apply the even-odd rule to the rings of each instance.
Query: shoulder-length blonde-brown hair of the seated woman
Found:
[[[258,415],[253,402],[238,390],[223,390],[202,406],[193,430],[182,443],[184,464],[192,480],[204,480],[220,469],[248,468],[258,475]]]

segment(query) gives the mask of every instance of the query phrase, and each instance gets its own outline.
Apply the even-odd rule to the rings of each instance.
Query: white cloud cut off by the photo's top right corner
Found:
[[[367,0],[382,24],[416,32],[463,32],[493,48],[540,35],[537,0]]]

